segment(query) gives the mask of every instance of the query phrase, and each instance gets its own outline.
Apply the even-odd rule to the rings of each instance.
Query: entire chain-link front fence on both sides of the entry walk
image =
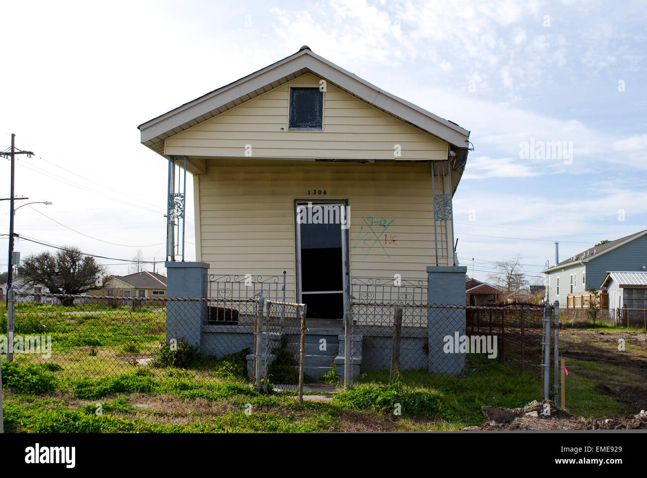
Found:
[[[305,365],[316,359],[316,352],[308,356],[304,350],[304,304],[261,297],[54,297],[58,303],[46,304],[14,293],[10,313],[0,321],[0,348],[9,360],[63,370],[70,380],[186,373],[204,383],[235,379],[301,396]],[[342,378],[349,370],[349,385],[372,372],[386,370],[394,380],[417,371],[431,377],[424,380],[459,378],[488,386],[510,378],[518,383],[510,385],[514,394],[514,387],[538,391],[542,370],[554,370],[543,347],[543,306],[353,301],[349,310],[334,359]]]

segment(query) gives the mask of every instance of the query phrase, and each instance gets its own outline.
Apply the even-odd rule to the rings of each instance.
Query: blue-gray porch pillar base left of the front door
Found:
[[[166,262],[166,296],[207,299],[206,262]],[[200,347],[202,325],[206,319],[205,301],[168,301],[166,303],[166,342],[186,340]]]

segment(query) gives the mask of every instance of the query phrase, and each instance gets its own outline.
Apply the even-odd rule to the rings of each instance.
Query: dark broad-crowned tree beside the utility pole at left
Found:
[[[44,252],[28,256],[18,266],[18,275],[26,284],[42,284],[52,294],[81,294],[99,289],[96,279],[107,271],[94,257],[84,256],[76,247],[65,247],[55,255]],[[69,297],[60,300],[63,305],[74,303]]]

